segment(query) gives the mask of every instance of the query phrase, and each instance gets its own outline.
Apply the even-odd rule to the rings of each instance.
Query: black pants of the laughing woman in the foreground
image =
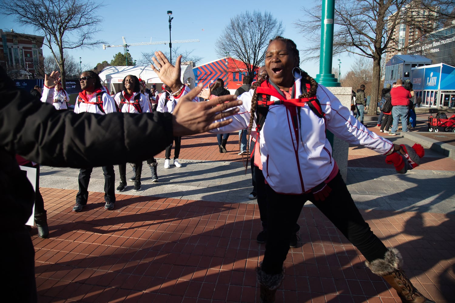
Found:
[[[329,182],[332,192],[324,201],[315,201],[313,194],[277,194],[268,184],[266,188],[268,233],[262,270],[268,274],[282,272],[289,251],[293,224],[298,220],[303,204],[311,201],[368,261],[384,258],[385,245],[371,231],[349,194],[338,173]]]

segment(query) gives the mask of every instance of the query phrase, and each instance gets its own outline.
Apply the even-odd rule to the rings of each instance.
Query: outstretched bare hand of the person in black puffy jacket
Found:
[[[201,89],[202,86],[198,85],[188,94],[178,99],[177,106],[172,114],[174,136],[199,134],[225,126],[231,123],[232,119],[214,121],[238,113],[238,108],[230,109],[242,104],[242,101],[237,100],[235,95],[224,95],[207,102],[193,102],[192,99],[201,92]],[[224,111],[226,109],[230,110]]]

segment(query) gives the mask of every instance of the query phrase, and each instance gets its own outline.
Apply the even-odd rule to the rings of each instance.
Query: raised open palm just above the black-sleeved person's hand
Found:
[[[166,56],[162,51],[156,51],[155,57],[152,58],[153,64],[150,65],[153,71],[155,71],[158,77],[163,81],[164,84],[169,86],[173,93],[179,90],[183,83],[180,79],[181,68],[180,61],[182,60],[182,55],[177,57],[175,61],[175,66],[167,60]]]

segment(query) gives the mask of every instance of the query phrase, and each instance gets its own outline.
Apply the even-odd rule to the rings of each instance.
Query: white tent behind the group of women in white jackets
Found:
[[[190,88],[194,88],[194,73],[190,65],[182,65],[182,83],[190,83]],[[109,89],[115,92],[121,90],[121,83],[127,75],[135,75],[147,84],[157,84],[158,91],[161,90],[162,81],[150,66],[106,66],[101,70],[99,76],[104,85],[109,85]],[[150,88],[149,85],[147,85]]]

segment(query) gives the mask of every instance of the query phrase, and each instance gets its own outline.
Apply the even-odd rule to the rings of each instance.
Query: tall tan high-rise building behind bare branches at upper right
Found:
[[[392,31],[392,40],[390,40],[388,48],[393,51],[386,53],[385,61],[389,62],[394,55],[406,55],[407,50],[403,50],[405,47],[419,41],[422,35],[437,30],[439,21],[436,17],[438,15],[438,8],[422,9],[418,6],[418,1],[413,1],[390,15],[387,18],[387,28]],[[396,18],[398,21],[393,26]]]

